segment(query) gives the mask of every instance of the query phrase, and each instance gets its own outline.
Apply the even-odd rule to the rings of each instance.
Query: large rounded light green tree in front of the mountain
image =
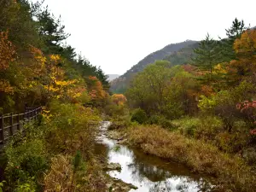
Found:
[[[133,108],[175,119],[192,110],[193,89],[197,85],[192,74],[182,67],[172,67],[167,61],[156,61],[132,80],[126,95]]]

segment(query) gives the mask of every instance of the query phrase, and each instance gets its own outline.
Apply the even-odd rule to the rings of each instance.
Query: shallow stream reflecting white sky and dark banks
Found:
[[[131,183],[138,189],[131,191],[212,191],[213,185],[207,177],[189,172],[178,164],[144,154],[136,148],[118,145],[117,141],[107,137],[110,122],[103,121],[100,136],[97,137],[96,153],[108,158],[108,163],[119,163],[122,170],[111,171],[111,177]],[[215,190],[214,190],[215,191]]]

